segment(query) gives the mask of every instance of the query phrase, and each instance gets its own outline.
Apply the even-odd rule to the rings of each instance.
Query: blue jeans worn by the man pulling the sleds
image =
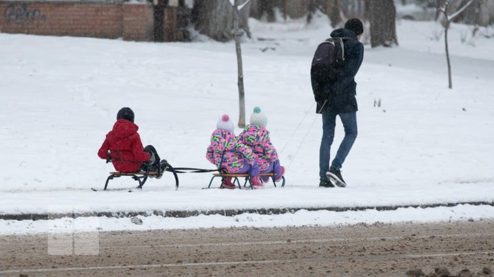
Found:
[[[325,111],[322,113],[322,140],[319,149],[319,178],[320,180],[327,180],[326,172],[329,171],[329,153],[331,150],[331,144],[333,144],[336,116],[340,116],[342,120],[345,136],[338,148],[336,157],[333,159],[331,166],[336,169],[340,169],[346,158],[350,153],[350,149],[357,138],[357,112],[351,112],[346,114],[334,114],[331,111]]]

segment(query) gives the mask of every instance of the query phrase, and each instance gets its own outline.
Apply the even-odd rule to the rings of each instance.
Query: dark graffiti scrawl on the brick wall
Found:
[[[47,19],[47,16],[42,14],[40,10],[30,10],[27,3],[22,3],[17,7],[15,4],[10,3],[7,8],[3,10],[3,17],[5,18],[5,23],[13,23],[17,25],[29,25],[33,23],[43,24]]]

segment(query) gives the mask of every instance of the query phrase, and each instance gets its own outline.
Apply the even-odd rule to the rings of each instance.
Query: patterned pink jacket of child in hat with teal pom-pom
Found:
[[[259,171],[263,172],[272,161],[278,159],[276,148],[271,144],[269,131],[257,125],[248,125],[239,135],[239,139],[254,152]]]

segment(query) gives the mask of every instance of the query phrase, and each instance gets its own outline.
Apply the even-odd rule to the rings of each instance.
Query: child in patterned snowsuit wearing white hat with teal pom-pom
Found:
[[[268,118],[261,112],[261,108],[255,107],[250,116],[250,125],[239,135],[239,139],[249,146],[254,152],[259,164],[259,172],[269,173],[274,171],[274,181],[281,181],[285,168],[280,166],[278,153],[271,143],[269,131],[266,130]],[[262,181],[269,181],[268,176],[263,176]]]

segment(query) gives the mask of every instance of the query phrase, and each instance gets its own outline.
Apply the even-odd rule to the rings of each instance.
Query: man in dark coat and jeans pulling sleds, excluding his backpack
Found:
[[[313,78],[312,88],[324,90],[325,98],[316,98],[317,111],[322,114],[322,140],[319,150],[320,187],[345,187],[346,183],[340,172],[342,164],[349,154],[357,137],[357,94],[355,75],[362,64],[364,45],[359,41],[364,32],[362,21],[351,18],[343,29],[331,32],[331,38],[342,38],[344,43],[344,64],[342,71],[334,81],[318,83]],[[333,144],[336,116],[340,116],[344,127],[342,140],[336,157],[329,167],[329,153]]]

